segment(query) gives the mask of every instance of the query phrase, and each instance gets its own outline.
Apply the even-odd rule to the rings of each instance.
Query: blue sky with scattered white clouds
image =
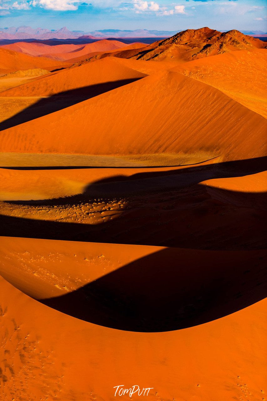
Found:
[[[267,31],[265,0],[0,0],[0,27]]]

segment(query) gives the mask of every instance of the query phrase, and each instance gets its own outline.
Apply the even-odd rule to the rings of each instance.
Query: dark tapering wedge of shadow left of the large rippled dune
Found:
[[[44,97],[36,101],[33,105],[26,107],[16,115],[0,122],[0,131],[23,124],[32,119],[43,117],[44,115],[54,113],[55,111],[65,109],[66,107],[73,106],[76,103],[91,99],[92,97],[101,95],[102,93],[112,91],[113,89],[119,88],[123,85],[128,85],[129,83],[138,81],[139,79],[141,78],[121,79],[118,81],[99,83]]]

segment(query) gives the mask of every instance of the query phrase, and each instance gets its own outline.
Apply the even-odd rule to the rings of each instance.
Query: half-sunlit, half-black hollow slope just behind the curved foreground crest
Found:
[[[3,247],[8,239],[3,240],[4,278],[26,294],[44,298],[42,302],[52,308],[120,330],[154,332],[195,326],[267,295],[265,251],[214,252],[70,242],[66,253],[64,241],[14,239],[5,255]],[[23,261],[17,259],[21,249],[27,249]],[[75,262],[74,253],[78,253]],[[116,255],[128,263],[116,262]],[[48,261],[49,270],[42,277]],[[28,263],[30,267],[25,269]],[[68,267],[68,275],[62,266]],[[81,286],[81,279],[87,283]]]

